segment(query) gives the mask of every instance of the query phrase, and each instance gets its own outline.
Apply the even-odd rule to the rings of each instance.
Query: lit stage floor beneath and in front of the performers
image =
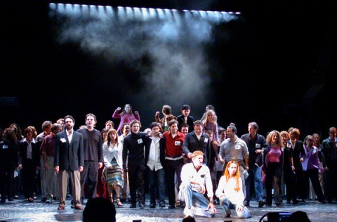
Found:
[[[40,199],[41,200],[41,199]],[[63,211],[58,211],[58,202],[46,204],[40,201],[27,203],[23,200],[14,200],[0,204],[0,221],[81,221],[82,211],[70,208],[70,200],[66,202],[66,208]],[[127,202],[124,206],[117,208],[117,221],[133,221],[142,220],[143,222],[164,222],[182,221],[183,209],[151,209],[149,202],[146,202],[145,209],[130,209]],[[84,205],[85,207],[85,205]],[[320,204],[316,201],[309,201],[307,204],[300,203],[296,206],[293,204],[283,204],[282,207],[263,207],[258,208],[256,202],[251,202],[252,218],[239,219],[235,218],[235,213],[232,213],[232,218],[224,218],[225,214],[220,205],[216,205],[218,214],[215,218],[202,218],[196,216],[196,221],[259,221],[260,218],[270,211],[305,211],[311,221],[337,221],[337,204]],[[265,218],[265,221],[267,218]]]

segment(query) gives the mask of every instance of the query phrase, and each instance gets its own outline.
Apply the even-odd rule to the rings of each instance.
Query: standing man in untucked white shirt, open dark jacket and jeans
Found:
[[[152,137],[145,145],[145,162],[147,165],[147,175],[150,183],[150,208],[156,207],[156,194],[158,185],[159,207],[165,207],[165,149],[159,144],[160,125],[152,122],[150,125]]]

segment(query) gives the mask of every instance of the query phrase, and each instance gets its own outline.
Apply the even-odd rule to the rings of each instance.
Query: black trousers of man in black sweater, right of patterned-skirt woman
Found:
[[[136,192],[139,204],[145,204],[145,163],[128,162],[128,183],[130,186],[131,203],[136,204]]]

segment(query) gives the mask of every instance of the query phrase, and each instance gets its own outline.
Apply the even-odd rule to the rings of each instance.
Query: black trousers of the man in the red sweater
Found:
[[[176,204],[176,193],[174,191],[174,174],[177,174],[178,186],[181,183],[181,169],[183,168],[184,161],[183,158],[177,160],[165,159],[166,162],[166,181],[167,190],[169,192],[169,204],[175,206]],[[179,190],[178,190],[179,192]]]

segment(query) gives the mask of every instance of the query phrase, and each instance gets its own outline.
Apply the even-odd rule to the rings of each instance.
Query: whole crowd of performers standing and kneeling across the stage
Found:
[[[318,133],[305,135],[302,142],[299,129],[272,130],[265,138],[250,122],[239,138],[235,124],[218,126],[212,105],[201,120],[190,110],[183,105],[176,117],[164,105],[163,117],[156,112],[144,131],[130,104],[114,111],[117,129],[108,120],[98,131],[92,113],[77,131],[71,115],[54,124],[45,121],[39,134],[34,126],[22,131],[11,124],[0,138],[0,202],[23,191],[27,202],[34,202],[37,192],[42,202],[58,201],[58,210],[65,209],[70,194],[74,209],[95,197],[117,207],[128,200],[129,207],[143,209],[148,188],[150,208],[168,204],[169,209],[184,208],[185,216],[212,217],[220,204],[226,217],[234,209],[237,217],[249,218],[252,199],[258,207],[280,206],[284,199],[287,204],[336,200],[335,127],[322,143]]]

